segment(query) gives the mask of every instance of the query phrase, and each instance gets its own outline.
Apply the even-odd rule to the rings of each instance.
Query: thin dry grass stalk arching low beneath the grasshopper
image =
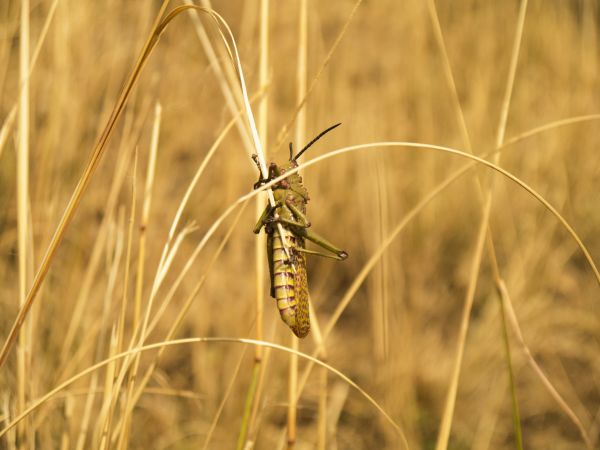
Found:
[[[158,342],[155,344],[144,345],[143,347],[137,347],[137,348],[128,350],[126,352],[116,354],[110,358],[107,358],[107,359],[105,359],[99,363],[96,363],[93,366],[90,366],[87,369],[79,372],[78,374],[74,375],[73,377],[69,378],[68,380],[66,380],[63,383],[56,386],[51,391],[47,392],[44,396],[42,396],[40,399],[38,399],[33,404],[31,404],[25,411],[23,411],[21,414],[19,414],[17,417],[15,417],[5,428],[0,430],[0,438],[2,436],[4,436],[8,431],[13,429],[23,419],[25,419],[27,416],[29,416],[29,414],[31,414],[33,411],[37,410],[41,405],[43,405],[45,402],[47,402],[52,397],[54,397],[57,393],[59,393],[66,387],[70,386],[74,382],[85,377],[86,375],[94,373],[96,370],[103,368],[104,366],[106,366],[112,362],[118,361],[118,360],[126,358],[126,357],[130,358],[141,352],[145,352],[145,351],[149,351],[149,350],[158,350],[161,348],[174,346],[174,345],[197,344],[197,343],[217,343],[217,342],[246,344],[246,345],[260,345],[260,346],[268,347],[268,348],[271,348],[274,350],[280,350],[280,351],[283,351],[286,353],[295,353],[301,358],[304,358],[308,361],[312,361],[313,363],[326,368],[329,372],[331,372],[332,374],[341,378],[348,385],[350,385],[354,389],[356,389],[365,399],[367,399],[367,401],[385,418],[385,420],[394,428],[394,430],[396,430],[396,432],[401,437],[405,448],[408,448],[408,442],[406,441],[406,437],[404,436],[404,432],[402,431],[402,428],[385,412],[385,410],[379,405],[379,403],[377,403],[377,401],[375,401],[373,399],[373,397],[371,397],[359,385],[357,385],[354,381],[352,381],[350,378],[348,378],[346,375],[344,375],[342,372],[340,372],[336,368],[332,367],[329,364],[324,363],[323,361],[320,361],[317,358],[313,358],[312,356],[307,355],[302,352],[299,352],[297,350],[289,349],[283,345],[275,344],[272,342],[266,342],[266,341],[257,341],[256,339],[226,338],[226,337],[223,337],[223,338],[220,338],[220,337],[198,337],[198,338],[176,339],[176,340],[172,340],[172,341]]]

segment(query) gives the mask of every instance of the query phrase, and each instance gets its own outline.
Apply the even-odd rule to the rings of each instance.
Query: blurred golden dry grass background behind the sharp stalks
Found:
[[[54,3],[39,0],[29,5],[32,49]],[[29,80],[28,283],[160,7],[159,2],[141,0],[56,4]],[[0,4],[0,126],[8,133],[0,148],[2,340],[19,305],[19,128],[7,118],[19,99],[21,6],[17,0]],[[212,6],[233,30],[253,95],[259,90],[260,2],[214,1]],[[461,0],[436,6],[472,148],[483,154],[495,148],[519,3]],[[309,3],[309,83],[353,7],[351,1]],[[529,2],[507,139],[556,120],[600,112],[599,9],[591,0]],[[203,23],[216,42],[210,22]],[[274,148],[296,107],[297,27],[297,2],[271,2],[270,82],[265,95],[269,158],[277,161],[287,158],[287,141],[293,139],[291,133]],[[306,104],[308,138],[338,121],[343,125],[311,148],[306,159],[345,145],[387,140],[466,150],[433,30],[425,2],[365,0],[359,6]],[[162,120],[146,229],[144,302],[179,201],[231,118],[187,14],[173,21],[150,57],[31,311],[25,326],[27,403],[108,356],[122,293],[132,297],[134,292],[156,102],[162,105]],[[501,160],[502,167],[564,215],[596,258],[600,255],[597,128],[597,119],[554,127],[507,147]],[[303,145],[295,142],[296,148]],[[315,231],[350,254],[344,263],[309,259],[311,298],[319,323],[327,322],[391,229],[464,162],[425,149],[383,148],[328,159],[306,170],[309,218]],[[410,221],[326,342],[327,362],[356,381],[401,424],[411,448],[434,448],[437,439],[482,216],[475,180],[477,175],[486,180],[489,173],[485,168],[468,172]],[[600,431],[598,284],[556,218],[514,183],[496,176],[490,229],[523,338],[595,446]],[[256,179],[256,167],[233,129],[184,210],[182,222],[193,221],[197,230],[184,239],[159,291],[159,304],[206,230],[230,203],[252,189]],[[111,206],[108,199],[115,180],[117,195]],[[132,182],[135,227],[132,256],[126,260]],[[254,336],[255,220],[253,208],[246,208],[216,264],[207,271],[231,220],[209,241],[150,342],[164,339],[204,274],[206,282],[176,337]],[[98,242],[102,226],[106,239]],[[98,269],[86,275],[96,245]],[[125,266],[130,269],[127,286]],[[111,271],[116,273],[112,280]],[[89,290],[84,289],[86,276]],[[264,302],[265,339],[288,345],[290,332],[266,288]],[[448,448],[515,447],[499,304],[484,253]],[[126,340],[132,335],[132,314],[129,303]],[[509,332],[509,339],[525,448],[585,448],[577,427],[527,364],[514,333]],[[311,336],[300,343],[301,351],[313,349]],[[252,352],[232,344],[168,348],[129,416],[128,448],[199,448],[230,382],[231,392],[208,448],[234,447]],[[19,410],[16,392],[23,380],[17,375],[15,355],[13,351],[0,371],[2,428]],[[152,357],[151,353],[142,357],[142,369]],[[252,431],[256,448],[277,448],[284,442],[287,364],[281,352],[270,352],[265,362]],[[301,368],[304,364],[301,360]],[[13,430],[2,438],[0,448],[77,448],[78,440],[80,448],[96,448],[95,420],[106,373],[100,371],[98,377],[94,396],[87,396],[89,377],[78,381],[23,422],[22,438]],[[393,428],[362,396],[334,376],[328,387],[328,448],[400,448]],[[298,449],[315,448],[318,389],[315,373],[298,402]],[[91,421],[82,432],[88,398]]]

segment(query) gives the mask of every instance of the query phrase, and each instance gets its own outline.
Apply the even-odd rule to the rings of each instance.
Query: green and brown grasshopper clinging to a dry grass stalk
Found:
[[[269,165],[269,175],[263,178],[260,172],[258,157],[252,155],[259,169],[259,179],[254,189],[281,176],[285,172],[298,167],[298,158],[324,134],[341,124],[333,125],[321,132],[300,150],[296,156],[290,142],[290,159],[286,164]],[[308,306],[308,278],[306,275],[306,256],[317,255],[342,261],[348,253],[310,230],[310,222],[306,218],[308,191],[302,184],[302,177],[297,172],[272,186],[275,206],[267,205],[254,227],[254,233],[260,233],[265,227],[267,233],[267,255],[269,258],[269,274],[271,276],[271,297],[277,301],[281,319],[299,338],[310,331],[310,314]],[[277,224],[281,224],[280,233]],[[306,240],[312,241],[330,253],[321,253],[305,248]]]

